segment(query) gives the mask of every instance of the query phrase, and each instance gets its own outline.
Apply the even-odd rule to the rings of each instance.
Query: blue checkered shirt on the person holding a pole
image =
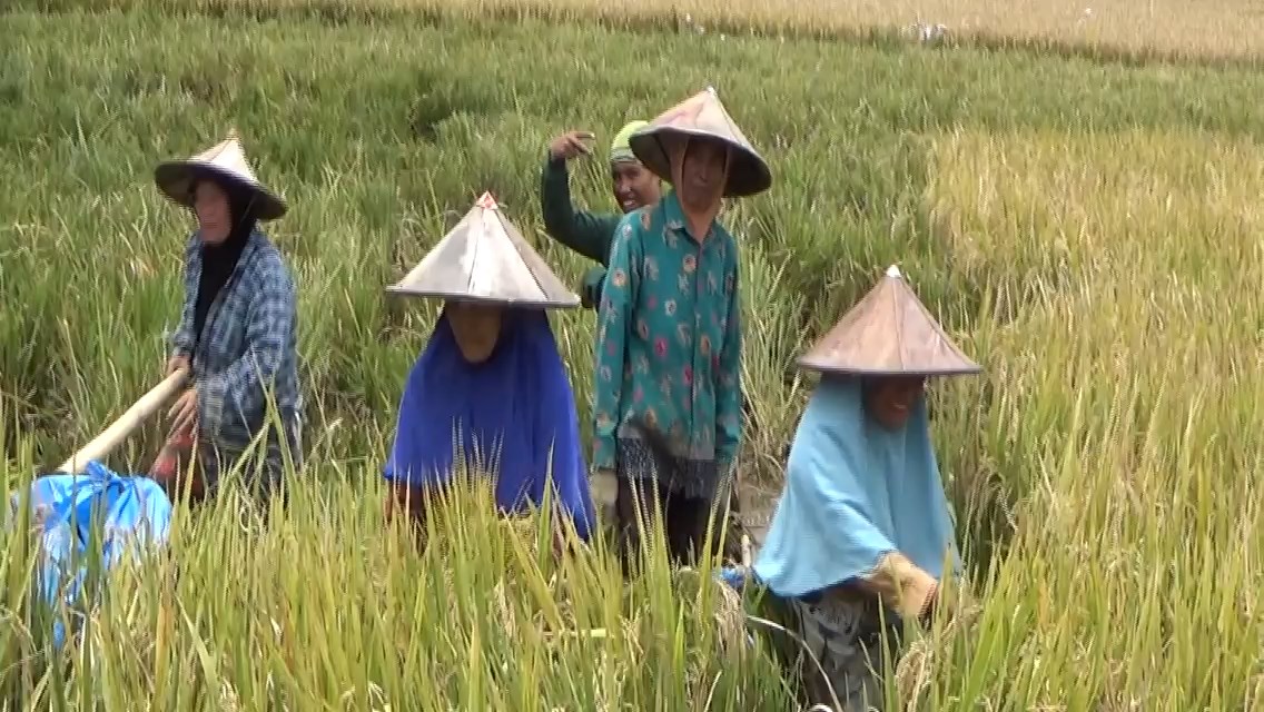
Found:
[[[185,305],[171,347],[173,355],[192,353],[198,436],[216,448],[245,448],[269,422],[270,396],[297,438],[302,412],[297,296],[281,252],[262,233],[250,235],[211,304],[195,352],[193,306],[201,277],[201,238],[195,233],[185,250]]]

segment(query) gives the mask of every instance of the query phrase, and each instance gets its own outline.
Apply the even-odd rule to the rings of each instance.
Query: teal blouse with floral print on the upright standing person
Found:
[[[713,221],[699,242],[676,192],[623,216],[603,286],[593,467],[616,469],[628,422],[665,436],[672,455],[727,477],[742,436],[738,254]]]

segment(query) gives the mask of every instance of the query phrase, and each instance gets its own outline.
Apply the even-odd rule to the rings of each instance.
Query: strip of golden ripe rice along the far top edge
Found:
[[[13,0],[42,9],[125,9],[145,0]],[[621,29],[930,40],[1002,49],[1088,53],[1126,61],[1258,64],[1264,8],[1251,0],[164,0],[181,13],[542,19]]]

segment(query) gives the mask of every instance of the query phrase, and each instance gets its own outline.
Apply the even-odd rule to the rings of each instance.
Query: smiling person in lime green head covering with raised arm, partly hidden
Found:
[[[593,214],[575,210],[570,200],[570,176],[566,164],[592,150],[584,143],[593,139],[588,132],[566,132],[549,144],[549,158],[540,175],[540,211],[545,231],[552,239],[600,263],[584,274],[580,288],[585,309],[597,309],[602,302],[602,281],[611,257],[614,229],[624,214],[653,205],[662,197],[659,176],[647,169],[628,147],[632,132],[648,125],[647,121],[629,121],[611,143],[611,188],[622,212]]]

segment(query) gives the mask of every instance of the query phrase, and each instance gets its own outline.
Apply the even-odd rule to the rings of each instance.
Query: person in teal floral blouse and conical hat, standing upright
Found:
[[[619,223],[598,315],[593,467],[617,482],[624,567],[659,511],[672,558],[703,554],[710,505],[728,492],[742,435],[742,322],[737,243],[717,215],[723,196],[771,185],[713,90],[629,144],[672,190]],[[662,436],[670,472],[655,467],[642,429]]]

